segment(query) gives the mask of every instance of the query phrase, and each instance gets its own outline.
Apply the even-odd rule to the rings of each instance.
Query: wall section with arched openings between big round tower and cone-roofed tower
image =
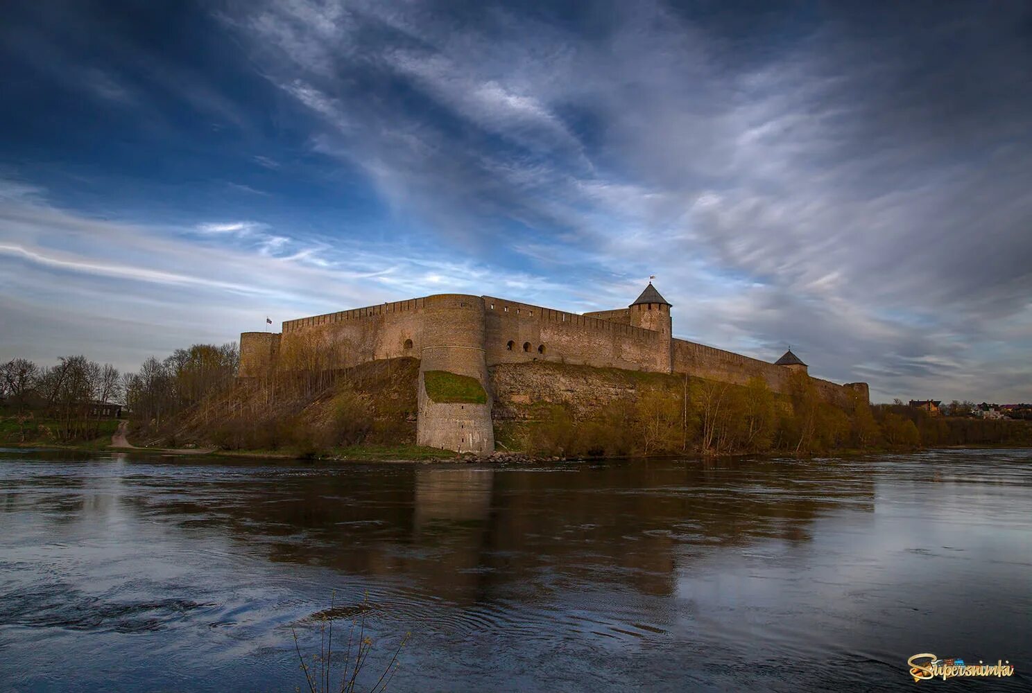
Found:
[[[550,361],[628,370],[669,370],[667,340],[651,330],[484,296],[487,363]],[[510,351],[508,342],[512,341]],[[523,344],[529,343],[529,351]],[[540,346],[544,352],[539,352]]]

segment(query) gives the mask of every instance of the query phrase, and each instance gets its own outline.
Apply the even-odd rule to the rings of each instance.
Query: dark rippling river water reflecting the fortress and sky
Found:
[[[1032,686],[1032,451],[475,466],[0,453],[0,690]],[[336,650],[336,647],[334,647]],[[367,687],[367,686],[366,686]]]

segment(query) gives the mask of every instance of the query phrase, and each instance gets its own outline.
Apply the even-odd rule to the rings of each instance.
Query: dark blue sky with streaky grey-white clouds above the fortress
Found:
[[[0,359],[655,274],[677,336],[1032,400],[1030,9],[7,3]]]

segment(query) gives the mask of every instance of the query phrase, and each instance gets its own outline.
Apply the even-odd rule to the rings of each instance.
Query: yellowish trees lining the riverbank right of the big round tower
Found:
[[[871,405],[860,393],[829,402],[805,374],[774,393],[763,378],[745,386],[668,378],[633,403],[612,402],[578,418],[563,404],[537,407],[513,444],[539,455],[819,455],[927,446],[1032,444],[1021,422],[932,417],[902,403]]]

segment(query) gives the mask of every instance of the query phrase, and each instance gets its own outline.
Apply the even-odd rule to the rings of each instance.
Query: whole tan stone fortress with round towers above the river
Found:
[[[786,392],[793,372],[807,366],[792,351],[767,363],[676,339],[671,304],[651,283],[625,308],[577,315],[493,296],[438,294],[283,323],[282,333],[240,334],[240,377],[278,367],[281,353],[315,344],[320,367],[348,368],[378,359],[420,360],[417,442],[459,452],[494,450],[489,368],[553,362],[659,373],[679,373],[744,385],[763,377]],[[485,403],[436,402],[424,373],[447,371],[475,378]],[[868,397],[866,383],[836,385],[812,378],[820,395],[844,403],[850,392]]]

